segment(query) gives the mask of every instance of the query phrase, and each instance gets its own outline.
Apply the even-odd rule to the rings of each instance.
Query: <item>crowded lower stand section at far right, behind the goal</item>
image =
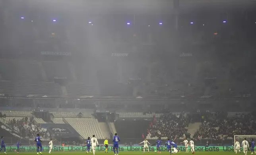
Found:
[[[256,127],[254,118],[251,113],[237,113],[230,117],[224,117],[223,114],[210,115],[205,118],[194,138],[217,140],[232,139],[234,135],[253,135]]]

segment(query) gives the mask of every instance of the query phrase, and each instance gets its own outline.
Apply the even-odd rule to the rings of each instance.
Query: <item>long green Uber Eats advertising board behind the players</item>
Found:
[[[6,146],[6,152],[13,152],[16,150],[16,146]],[[86,151],[86,146],[53,146],[52,151]],[[20,146],[20,152],[36,152],[36,146]],[[120,146],[119,151],[131,151],[140,152],[143,151],[143,146]],[[180,151],[186,151],[184,146],[178,146]],[[188,148],[190,150],[190,148]],[[242,149],[242,148],[241,148]],[[147,149],[145,149],[147,151]],[[49,151],[49,146],[43,146],[43,151]],[[105,147],[96,147],[96,151],[105,151]],[[113,151],[113,147],[109,147],[109,151]],[[157,151],[155,146],[149,147],[149,151]],[[162,146],[161,151],[167,151],[166,147]],[[195,146],[195,151],[206,152],[219,152],[226,151],[234,152],[233,146]]]

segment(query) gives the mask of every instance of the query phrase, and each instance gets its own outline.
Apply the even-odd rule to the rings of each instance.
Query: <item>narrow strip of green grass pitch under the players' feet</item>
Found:
[[[16,152],[6,152],[8,155],[17,155]],[[42,152],[43,155],[49,155],[48,151]],[[247,155],[249,155],[251,152],[247,152]],[[191,152],[189,153],[185,153],[185,152],[180,152],[180,153],[176,153],[176,155],[192,155]],[[234,155],[235,152],[230,151],[230,152],[224,152],[224,151],[220,151],[220,152],[195,152],[196,155]],[[238,153],[239,154],[239,153]],[[4,153],[2,152],[1,155],[4,155]],[[37,155],[37,152],[20,152],[19,155]],[[66,152],[54,152],[52,151],[50,155],[93,155],[93,153],[85,153],[84,151],[81,152],[75,152],[75,151],[66,151]],[[101,151],[96,151],[95,155],[114,155],[113,152],[109,152],[109,153],[105,153],[105,152],[101,152]],[[155,152],[120,152],[118,153],[118,155],[170,155],[169,152],[161,152],[161,154],[159,153],[155,153]],[[172,155],[174,155],[172,153]],[[240,153],[239,155],[244,155],[244,153]]]

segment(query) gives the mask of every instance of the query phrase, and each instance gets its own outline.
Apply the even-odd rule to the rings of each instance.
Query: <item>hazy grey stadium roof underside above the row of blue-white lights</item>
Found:
[[[101,14],[112,11],[123,13],[172,13],[177,0],[9,0],[16,7],[63,11],[66,13]],[[12,3],[15,2],[15,3]],[[21,3],[21,4],[19,4]],[[197,9],[252,8],[256,0],[179,0],[180,13]]]

